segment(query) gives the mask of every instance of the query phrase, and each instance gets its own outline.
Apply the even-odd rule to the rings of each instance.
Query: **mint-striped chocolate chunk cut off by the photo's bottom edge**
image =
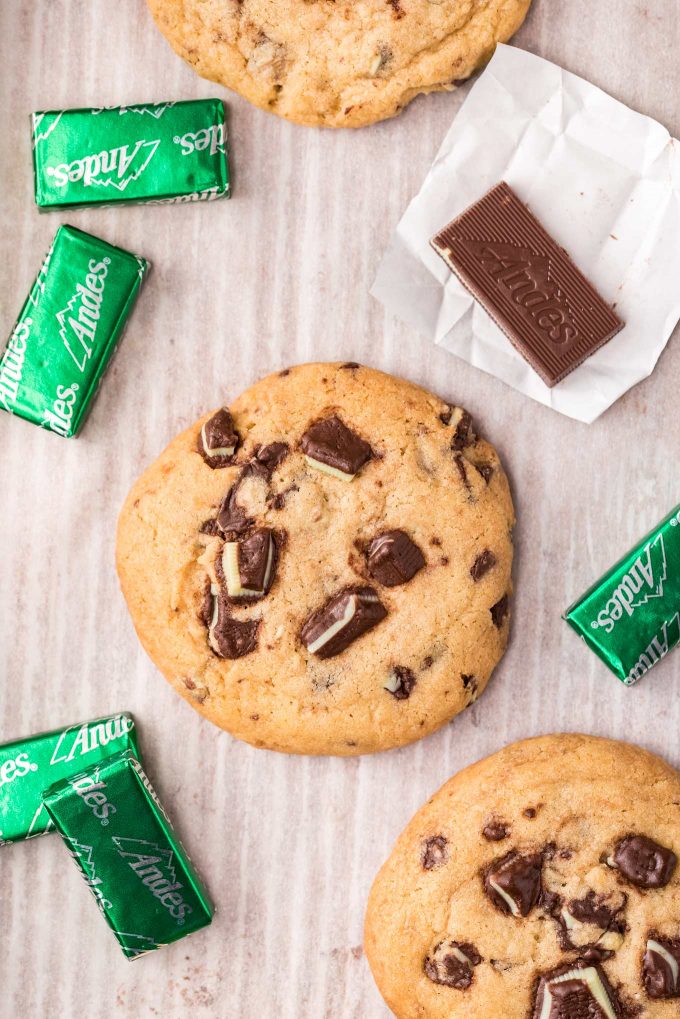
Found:
[[[544,973],[533,1019],[620,1019],[621,1005],[597,963],[578,959]]]

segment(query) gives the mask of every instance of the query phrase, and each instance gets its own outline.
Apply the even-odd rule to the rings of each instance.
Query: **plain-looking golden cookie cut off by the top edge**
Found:
[[[303,124],[361,127],[453,89],[531,0],[148,0],[203,77]]]

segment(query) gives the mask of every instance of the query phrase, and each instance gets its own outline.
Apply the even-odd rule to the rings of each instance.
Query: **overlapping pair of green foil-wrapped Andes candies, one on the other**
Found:
[[[0,746],[0,845],[57,830],[128,959],[207,926],[208,894],[127,713]]]

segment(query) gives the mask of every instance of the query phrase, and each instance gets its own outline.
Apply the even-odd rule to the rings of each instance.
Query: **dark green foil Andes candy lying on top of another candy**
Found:
[[[134,753],[71,775],[43,799],[128,959],[210,923],[207,892]]]

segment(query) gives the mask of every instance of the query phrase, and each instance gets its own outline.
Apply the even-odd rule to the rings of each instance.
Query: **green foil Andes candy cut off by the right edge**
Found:
[[[680,643],[680,506],[570,605],[565,619],[626,686]]]

